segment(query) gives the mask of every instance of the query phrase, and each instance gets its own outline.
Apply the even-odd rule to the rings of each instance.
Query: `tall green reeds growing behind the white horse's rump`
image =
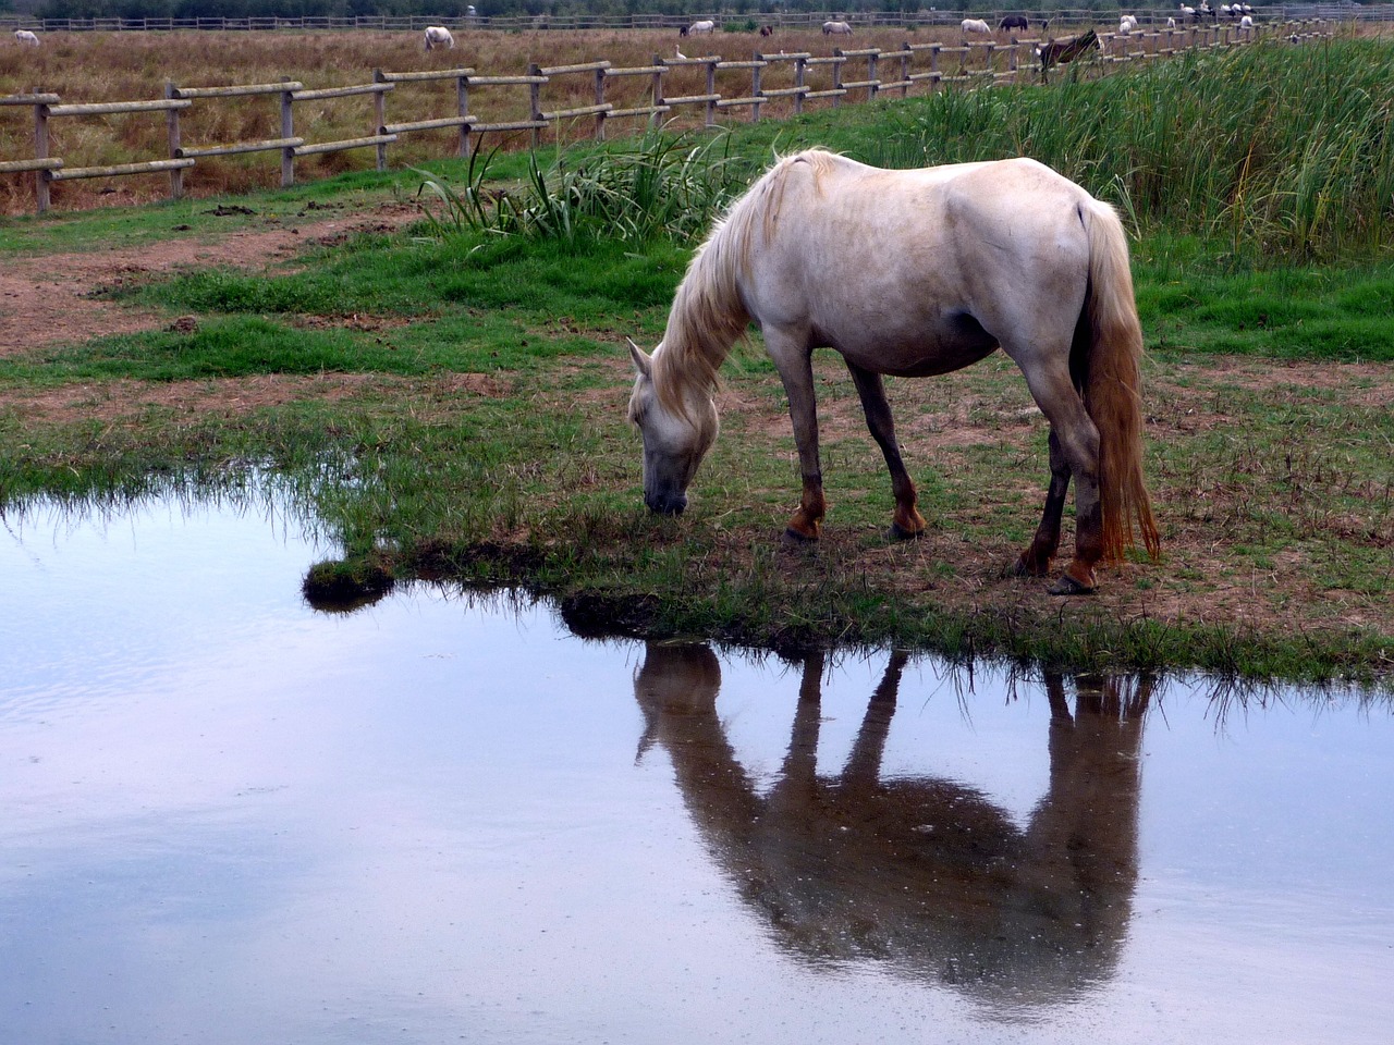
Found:
[[[1048,89],[945,92],[868,144],[884,166],[1034,156],[1133,222],[1289,261],[1394,244],[1394,46],[1270,42]]]

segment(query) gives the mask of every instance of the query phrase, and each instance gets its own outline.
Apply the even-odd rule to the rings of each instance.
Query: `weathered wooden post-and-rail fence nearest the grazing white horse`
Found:
[[[1284,36],[1294,40],[1308,40],[1331,35],[1331,25],[1315,22],[1260,22],[1252,28],[1234,24],[1190,25],[1181,28],[1144,28],[1126,35],[1100,33],[1100,54],[1096,61],[1105,64],[1153,61],[1196,47],[1228,47],[1259,40],[1262,36]],[[761,109],[775,100],[788,99],[793,113],[802,113],[806,103],[827,102],[839,106],[843,102],[868,102],[889,92],[891,96],[907,98],[913,89],[940,91],[951,86],[977,88],[999,82],[1012,82],[1030,77],[1046,77],[1036,57],[1039,40],[1022,39],[1011,42],[963,42],[963,43],[905,43],[895,50],[880,47],[834,49],[828,56],[814,56],[809,52],[792,54],[756,53],[749,60],[728,61],[719,54],[703,57],[654,57],[648,65],[616,68],[609,61],[591,61],[576,65],[542,67],[531,65],[524,75],[481,75],[473,68],[443,71],[389,72],[375,70],[372,82],[353,86],[307,89],[298,81],[277,84],[250,84],[234,86],[185,88],[167,84],[164,98],[138,102],[102,102],[89,104],[64,104],[57,95],[10,95],[0,96],[0,106],[28,106],[33,110],[33,156],[26,159],[0,159],[0,174],[32,174],[38,210],[43,213],[50,203],[50,185],[70,178],[121,177],[128,174],[167,173],[171,198],[184,192],[184,171],[199,160],[231,153],[279,152],[280,183],[294,184],[296,159],[316,153],[347,149],[376,149],[378,170],[388,169],[389,146],[401,135],[417,131],[457,128],[457,150],[468,156],[477,149],[484,134],[521,132],[531,134],[533,146],[541,141],[541,134],[556,124],[572,125],[587,121],[595,139],[606,137],[606,128],[616,120],[643,118],[648,125],[658,125],[679,110],[694,114],[705,127],[714,127],[726,113],[744,111],[746,118],[758,121]],[[704,89],[696,93],[671,96],[665,93],[665,79],[679,70],[697,70]],[[594,102],[569,109],[548,109],[546,88],[558,85],[563,78],[584,75],[594,84]],[[638,106],[616,106],[608,100],[608,85],[622,77],[648,78],[647,102]],[[395,98],[399,88],[410,89],[428,81],[454,81],[456,111],[435,118],[389,120],[389,96]],[[747,86],[749,85],[749,86]],[[527,116],[524,118],[489,118],[470,111],[471,91],[477,88],[506,88],[527,91]],[[725,92],[723,89],[725,88]],[[735,88],[735,91],[732,91]],[[245,98],[251,95],[277,95],[280,98],[280,135],[263,141],[209,142],[187,145],[180,128],[180,113],[195,103],[209,104],[217,99]],[[365,113],[365,127],[361,137],[336,141],[309,142],[296,132],[296,104],[328,98],[353,95],[371,96],[371,113]],[[396,102],[390,103],[397,107]],[[519,111],[512,106],[512,111]],[[70,116],[103,116],[151,113],[163,114],[169,125],[169,150],[158,159],[112,166],[70,167],[61,156],[49,155],[49,123]],[[368,123],[371,120],[371,124]]]

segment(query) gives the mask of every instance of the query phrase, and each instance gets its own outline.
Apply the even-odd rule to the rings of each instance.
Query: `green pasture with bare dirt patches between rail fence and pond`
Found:
[[[1186,61],[1069,93],[1020,91],[999,109],[940,98],[573,149],[551,173],[552,156],[538,169],[524,155],[429,164],[459,201],[474,188],[546,216],[509,234],[491,231],[488,208],[449,209],[413,171],[11,219],[0,224],[6,277],[29,273],[53,293],[67,272],[78,293],[66,298],[67,334],[0,346],[0,511],[238,488],[270,468],[342,549],[314,571],[326,587],[507,582],[559,596],[570,621],[597,631],[1387,686],[1394,203],[1338,215],[1326,181],[1313,210],[1301,205],[1322,155],[1354,198],[1387,191],[1373,187],[1394,146],[1365,137],[1376,121],[1362,107],[1388,111],[1380,47]],[[1295,86],[1316,72],[1365,84],[1372,64],[1363,103]],[[1118,116],[1174,81],[1203,98],[1249,92],[1250,132],[1216,106]],[[1062,99],[1076,113],[1064,130],[1046,118]],[[1338,131],[1317,134],[1309,109],[1338,114]],[[984,111],[998,116],[990,130]],[[1126,142],[1115,123],[1132,127]],[[1277,150],[1288,124],[1308,128],[1303,152]],[[1200,141],[1216,144],[1213,169],[1193,160]],[[683,181],[658,195],[710,205],[714,187],[739,191],[772,150],[811,144],[881,162],[1016,149],[1119,203],[1138,234],[1163,562],[1103,571],[1090,599],[1002,577],[1039,518],[1047,454],[1044,424],[1001,357],[889,382],[930,521],[921,541],[884,539],[884,465],[850,379],[821,354],[831,511],[817,546],[781,543],[797,465],[758,336],[723,369],[723,432],[689,511],[648,516],[623,340],[659,339],[694,238],[620,238],[629,219],[587,201],[612,198],[602,173],[671,156],[690,162],[665,169]],[[538,181],[565,192],[544,203]],[[96,238],[106,251],[85,262],[81,245]]]

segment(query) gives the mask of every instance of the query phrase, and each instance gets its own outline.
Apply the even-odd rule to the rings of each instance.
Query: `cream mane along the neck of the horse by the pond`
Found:
[[[740,280],[750,274],[757,247],[778,231],[790,169],[813,166],[817,181],[838,160],[807,149],[778,159],[712,226],[693,255],[668,312],[664,340],[654,351],[654,387],[664,405],[683,417],[691,394],[710,394],[730,346],[746,333],[750,312]]]

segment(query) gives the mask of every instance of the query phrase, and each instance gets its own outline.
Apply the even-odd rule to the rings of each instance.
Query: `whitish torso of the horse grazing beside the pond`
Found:
[[[761,326],[804,323],[849,358],[899,344],[891,372],[963,365],[1027,312],[1073,329],[1090,196],[1036,160],[882,170],[813,150],[767,177],[746,216]]]

